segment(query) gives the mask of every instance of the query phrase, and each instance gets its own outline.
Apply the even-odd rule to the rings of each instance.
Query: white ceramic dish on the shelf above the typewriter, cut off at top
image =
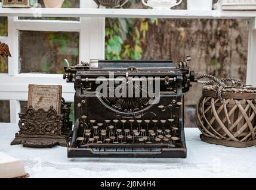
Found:
[[[176,5],[179,5],[182,0],[141,0],[147,7],[152,7],[153,9],[170,9]]]

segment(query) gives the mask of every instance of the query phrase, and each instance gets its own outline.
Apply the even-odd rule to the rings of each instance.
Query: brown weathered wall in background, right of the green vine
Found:
[[[127,5],[142,8],[140,1]],[[175,9],[186,9],[186,1]],[[173,59],[192,56],[196,75],[246,80],[248,31],[245,20],[159,19],[151,24],[143,42],[143,59]],[[195,126],[195,105],[202,85],[193,84],[186,94],[186,125]]]

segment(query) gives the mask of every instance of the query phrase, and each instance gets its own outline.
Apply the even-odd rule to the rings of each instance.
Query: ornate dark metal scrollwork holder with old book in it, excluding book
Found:
[[[61,115],[53,109],[35,110],[32,106],[26,108],[24,113],[19,113],[20,131],[11,142],[23,144],[24,147],[53,147],[54,145],[67,146],[67,141],[72,133],[72,121],[69,119],[71,103],[61,100]]]

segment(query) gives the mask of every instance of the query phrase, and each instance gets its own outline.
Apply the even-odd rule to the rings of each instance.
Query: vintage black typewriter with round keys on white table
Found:
[[[188,61],[67,65],[63,78],[76,91],[68,157],[186,158],[183,93],[194,80]]]

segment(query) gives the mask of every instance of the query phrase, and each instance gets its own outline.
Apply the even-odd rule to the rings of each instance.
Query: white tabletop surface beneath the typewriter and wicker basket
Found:
[[[256,147],[203,143],[186,128],[187,159],[68,159],[67,148],[11,146],[18,126],[0,125],[0,151],[23,161],[30,178],[246,178],[256,177]]]

